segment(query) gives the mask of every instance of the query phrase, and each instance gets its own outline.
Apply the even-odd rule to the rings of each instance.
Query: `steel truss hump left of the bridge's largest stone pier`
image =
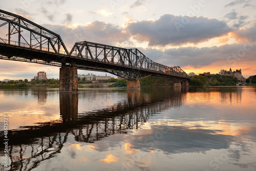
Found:
[[[62,53],[69,54],[58,34],[22,16],[4,10],[0,10],[0,19],[4,21],[4,23],[0,24],[0,28],[8,26],[8,34],[6,35],[8,36],[8,41],[6,44],[11,44],[11,39],[15,39],[18,40],[18,46],[20,46],[21,42],[24,42],[25,46],[32,49],[42,50],[44,48],[45,51],[53,49],[55,53],[60,53],[60,48],[62,47],[64,50]]]

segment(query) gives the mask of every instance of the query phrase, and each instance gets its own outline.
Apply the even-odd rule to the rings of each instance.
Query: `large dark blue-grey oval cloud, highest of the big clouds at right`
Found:
[[[226,23],[217,19],[170,14],[165,14],[156,21],[130,23],[126,30],[135,39],[148,41],[149,46],[197,44],[232,31]]]

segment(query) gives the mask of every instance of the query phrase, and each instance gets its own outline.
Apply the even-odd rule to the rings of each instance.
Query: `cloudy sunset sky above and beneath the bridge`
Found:
[[[0,8],[59,34],[69,51],[86,40],[138,48],[187,74],[231,68],[245,78],[256,75],[254,0],[9,0],[0,1]],[[7,38],[1,28],[0,36]],[[39,71],[59,78],[57,67],[0,60],[0,80],[31,79]],[[78,70],[87,73],[105,75]]]

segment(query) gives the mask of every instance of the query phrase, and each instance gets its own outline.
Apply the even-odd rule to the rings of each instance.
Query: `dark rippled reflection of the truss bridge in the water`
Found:
[[[13,131],[9,136],[12,144],[8,170],[36,168],[42,161],[61,153],[69,135],[75,141],[93,143],[113,134],[140,129],[158,112],[179,108],[186,100],[186,92],[186,88],[127,90],[126,99],[108,108],[79,114],[78,94],[60,94],[61,120],[26,126],[26,130]],[[38,93],[39,96],[46,97]]]

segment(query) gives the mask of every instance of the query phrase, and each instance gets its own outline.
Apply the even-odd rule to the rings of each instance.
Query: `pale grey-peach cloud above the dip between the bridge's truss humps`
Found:
[[[44,25],[44,27],[59,34],[68,48],[72,48],[77,41],[114,45],[116,42],[129,40],[130,37],[120,27],[99,21],[73,28],[57,25]]]

